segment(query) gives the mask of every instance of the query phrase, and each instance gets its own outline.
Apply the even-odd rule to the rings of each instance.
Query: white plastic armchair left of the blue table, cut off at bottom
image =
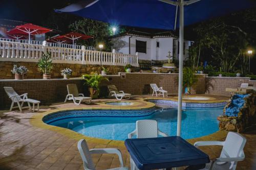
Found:
[[[123,167],[122,154],[116,148],[103,148],[103,149],[89,150],[87,142],[84,139],[81,139],[78,141],[77,148],[82,157],[83,168],[86,170],[95,170],[95,165],[93,163],[91,154],[117,154],[119,157],[121,167],[112,168],[112,170],[128,170],[127,167]]]

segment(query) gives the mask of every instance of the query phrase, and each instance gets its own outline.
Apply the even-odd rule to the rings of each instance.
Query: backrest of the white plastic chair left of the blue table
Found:
[[[95,169],[95,165],[93,163],[92,156],[86,140],[84,139],[79,140],[77,143],[77,148],[81,155],[84,169]]]

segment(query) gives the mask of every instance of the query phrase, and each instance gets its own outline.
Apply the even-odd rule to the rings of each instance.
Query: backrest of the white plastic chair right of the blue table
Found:
[[[243,149],[246,138],[236,132],[228,132],[225,143],[223,145],[220,158],[232,157],[237,158],[244,154]],[[231,162],[231,166],[237,162]]]

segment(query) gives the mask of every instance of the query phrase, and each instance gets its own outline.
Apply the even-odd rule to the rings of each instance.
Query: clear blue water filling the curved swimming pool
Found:
[[[218,131],[217,117],[223,113],[223,107],[182,111],[181,136],[185,139],[205,136]],[[170,136],[176,135],[177,109],[156,110],[150,116],[142,117],[79,117],[60,119],[50,125],[71,129],[80,134],[113,140],[125,140],[135,130],[136,120],[154,119],[158,128]]]

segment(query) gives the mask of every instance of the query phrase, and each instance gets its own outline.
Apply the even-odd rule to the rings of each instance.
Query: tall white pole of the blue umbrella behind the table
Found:
[[[183,34],[184,34],[184,6],[183,0],[180,0],[180,54],[179,54],[179,91],[178,91],[178,117],[177,117],[177,136],[181,132],[181,114],[182,114],[182,83],[183,83]]]

